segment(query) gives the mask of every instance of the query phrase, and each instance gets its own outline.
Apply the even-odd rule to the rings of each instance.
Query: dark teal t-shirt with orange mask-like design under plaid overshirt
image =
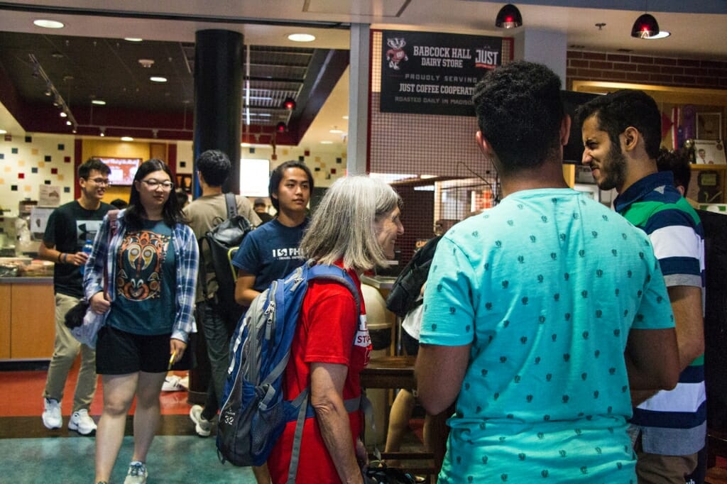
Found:
[[[172,228],[145,220],[124,233],[116,251],[116,295],[106,323],[132,334],[166,334],[174,325]]]

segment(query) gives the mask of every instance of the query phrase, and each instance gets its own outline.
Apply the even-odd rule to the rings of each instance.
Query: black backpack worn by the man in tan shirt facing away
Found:
[[[204,241],[209,246],[209,262],[214,267],[214,281],[217,281],[217,310],[228,326],[234,328],[244,308],[235,302],[235,270],[230,254],[238,249],[253,227],[248,219],[237,213],[234,193],[225,193],[225,204],[228,218],[208,230],[200,239],[200,245]],[[200,267],[206,267],[206,262],[202,261]],[[204,299],[207,299],[206,273],[200,270],[200,274]]]

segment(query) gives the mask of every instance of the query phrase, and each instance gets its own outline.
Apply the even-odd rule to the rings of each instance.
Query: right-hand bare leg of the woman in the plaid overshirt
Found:
[[[146,461],[146,454],[154,440],[161,415],[159,394],[165,376],[165,372],[139,372],[137,406],[134,411],[134,461]]]

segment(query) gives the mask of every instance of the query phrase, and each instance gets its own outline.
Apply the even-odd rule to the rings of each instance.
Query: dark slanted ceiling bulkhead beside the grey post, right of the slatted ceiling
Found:
[[[342,49],[316,49],[308,69],[317,76],[305,76],[305,82],[298,94],[300,99],[307,100],[305,105],[297,105],[288,131],[295,140],[300,141],[310,124],[318,115],[337,82],[348,68],[350,52]],[[296,142],[297,144],[297,142]]]

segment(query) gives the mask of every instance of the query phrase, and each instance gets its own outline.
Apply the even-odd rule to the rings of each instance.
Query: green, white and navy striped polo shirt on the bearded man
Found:
[[[702,288],[704,311],[704,231],[696,211],[675,189],[672,172],[643,177],[616,197],[614,206],[644,230],[671,286]],[[674,390],[660,391],[634,409],[644,451],[683,456],[704,447],[707,429],[704,355],[679,376]]]

